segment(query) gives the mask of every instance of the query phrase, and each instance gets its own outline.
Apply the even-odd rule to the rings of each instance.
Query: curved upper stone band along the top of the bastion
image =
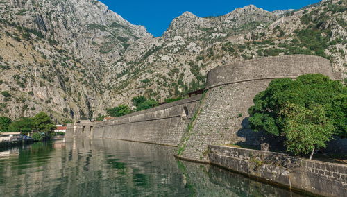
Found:
[[[320,73],[334,78],[330,61],[314,55],[285,55],[245,60],[217,67],[208,72],[207,88],[248,80],[296,78]]]

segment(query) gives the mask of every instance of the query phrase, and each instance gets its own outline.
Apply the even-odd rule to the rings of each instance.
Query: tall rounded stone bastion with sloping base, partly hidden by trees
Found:
[[[275,78],[302,74],[324,74],[333,78],[330,61],[312,55],[258,58],[217,67],[208,72],[207,89],[196,110],[196,119],[183,135],[178,156],[208,161],[208,145],[259,146],[263,134],[248,127],[248,108],[254,96]]]

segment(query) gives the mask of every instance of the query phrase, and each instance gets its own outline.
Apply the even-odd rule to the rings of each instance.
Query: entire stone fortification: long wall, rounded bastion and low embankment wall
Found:
[[[90,136],[178,146],[181,159],[223,166],[276,185],[314,194],[346,194],[346,167],[266,151],[220,146],[269,140],[248,128],[254,96],[276,78],[320,73],[333,78],[329,60],[287,55],[246,60],[208,72],[205,93],[101,123],[69,124],[67,136]],[[332,142],[329,143],[328,148]],[[339,141],[346,144],[346,140]],[[344,145],[343,145],[344,146]],[[331,148],[337,150],[338,148]],[[342,147],[346,153],[347,147]],[[278,163],[285,162],[282,166]],[[281,163],[282,164],[282,163]],[[293,166],[294,165],[294,166]],[[301,180],[297,180],[301,179]]]

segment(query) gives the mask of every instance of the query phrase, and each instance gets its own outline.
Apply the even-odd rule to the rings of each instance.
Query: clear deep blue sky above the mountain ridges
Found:
[[[199,17],[225,15],[235,8],[253,4],[264,10],[298,9],[319,0],[101,0],[110,10],[124,17],[132,24],[144,25],[149,33],[160,36],[169,27],[170,22],[183,12],[189,11]]]

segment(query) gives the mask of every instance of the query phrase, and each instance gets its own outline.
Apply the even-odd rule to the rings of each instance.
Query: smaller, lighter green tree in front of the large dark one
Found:
[[[287,151],[296,155],[310,153],[310,160],[316,148],[325,148],[326,142],[332,139],[332,124],[325,116],[321,105],[310,105],[305,108],[301,105],[287,104],[280,111],[284,128]]]

